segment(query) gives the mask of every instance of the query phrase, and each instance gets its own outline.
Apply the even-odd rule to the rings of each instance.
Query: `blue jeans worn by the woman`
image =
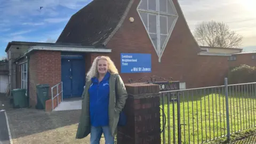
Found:
[[[99,127],[91,126],[91,142],[90,143],[100,144],[100,138],[101,138],[102,132],[104,134],[105,143],[114,144],[114,137],[112,137],[109,126],[99,126]]]

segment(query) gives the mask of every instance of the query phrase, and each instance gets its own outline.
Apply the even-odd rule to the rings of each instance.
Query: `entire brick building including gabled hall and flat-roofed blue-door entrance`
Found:
[[[26,62],[21,71],[30,105],[36,105],[37,84],[63,82],[63,98],[81,97],[85,73],[98,55],[113,59],[125,83],[155,75],[187,88],[223,84],[231,54],[202,52],[177,0],[147,2],[94,0],[70,18],[55,44],[29,46],[15,62]],[[146,71],[127,70],[122,54],[137,55]]]

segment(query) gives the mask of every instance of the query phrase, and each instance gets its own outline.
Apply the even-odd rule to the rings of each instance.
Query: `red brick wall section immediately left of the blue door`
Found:
[[[36,51],[29,60],[29,97],[30,106],[35,107],[36,85],[49,84],[51,87],[61,82],[61,53],[57,51]]]

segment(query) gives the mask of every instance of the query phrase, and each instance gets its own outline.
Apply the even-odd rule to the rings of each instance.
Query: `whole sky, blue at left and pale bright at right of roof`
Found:
[[[54,43],[71,15],[91,1],[0,0],[0,58],[11,41]],[[178,1],[192,32],[203,21],[222,21],[244,37],[244,51],[256,50],[255,0]]]

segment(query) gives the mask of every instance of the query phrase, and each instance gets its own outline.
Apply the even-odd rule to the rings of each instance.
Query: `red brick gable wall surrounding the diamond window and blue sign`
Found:
[[[190,33],[177,0],[173,2],[179,18],[160,63],[137,12],[139,0],[134,1],[123,25],[108,42],[107,47],[112,49],[112,52],[92,54],[91,59],[98,55],[109,55],[120,70],[120,53],[151,53],[152,73],[121,74],[125,83],[129,78],[135,81],[146,75],[156,75],[165,78],[173,77],[175,81],[186,82],[187,87],[223,84],[228,68],[227,57],[197,55],[200,48]],[[133,23],[129,21],[130,17],[134,18]]]

